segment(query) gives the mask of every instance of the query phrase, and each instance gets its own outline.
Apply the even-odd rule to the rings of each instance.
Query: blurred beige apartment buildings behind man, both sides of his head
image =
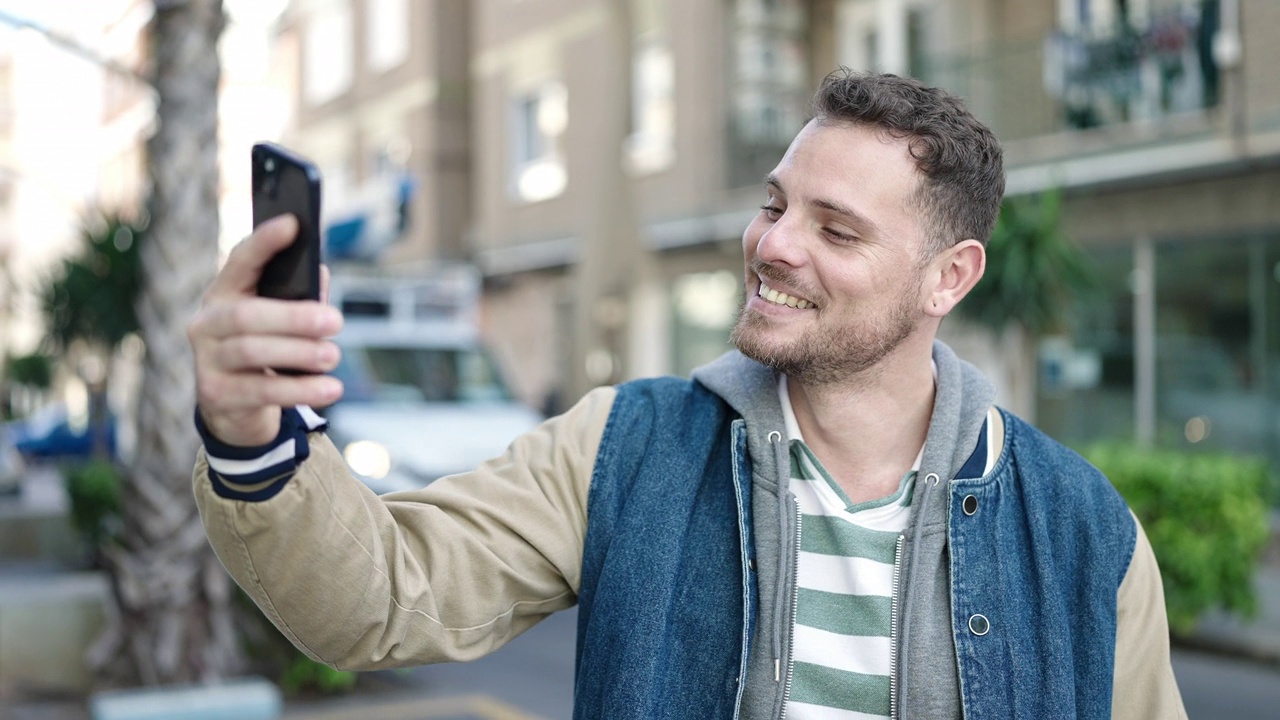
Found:
[[[1010,195],[1061,190],[1105,278],[1033,384],[948,320],[1002,404],[1071,442],[1280,447],[1280,3],[294,0],[287,17],[298,147],[334,202],[411,178],[403,238],[372,258],[476,263],[485,332],[530,402],[728,347],[760,178],[847,65],[964,96],[1005,143]]]

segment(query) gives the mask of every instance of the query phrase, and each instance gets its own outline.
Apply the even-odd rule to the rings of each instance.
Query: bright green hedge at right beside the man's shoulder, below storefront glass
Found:
[[[1160,562],[1170,629],[1190,633],[1213,609],[1257,612],[1253,575],[1271,532],[1274,482],[1265,461],[1120,442],[1082,454],[1142,520]]]

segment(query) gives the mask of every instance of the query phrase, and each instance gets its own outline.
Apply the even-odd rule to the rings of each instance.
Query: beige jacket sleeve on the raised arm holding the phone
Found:
[[[575,603],[613,397],[595,389],[475,471],[383,497],[321,433],[261,502],[215,495],[201,450],[200,516],[236,582],[310,657],[352,670],[471,660]]]

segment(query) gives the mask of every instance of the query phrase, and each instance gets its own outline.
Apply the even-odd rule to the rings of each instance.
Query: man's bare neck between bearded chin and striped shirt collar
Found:
[[[929,430],[932,338],[905,342],[838,383],[787,378],[787,391],[805,443],[850,500],[884,497],[911,469]]]

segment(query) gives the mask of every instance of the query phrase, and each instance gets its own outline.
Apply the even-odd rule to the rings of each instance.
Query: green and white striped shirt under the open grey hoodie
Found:
[[[786,377],[778,380],[800,510],[788,720],[890,717],[899,538],[911,519],[924,448],[888,497],[852,503],[804,443]],[[996,413],[995,409],[988,411]],[[983,432],[982,474],[995,464]],[[975,452],[975,456],[979,454]]]

